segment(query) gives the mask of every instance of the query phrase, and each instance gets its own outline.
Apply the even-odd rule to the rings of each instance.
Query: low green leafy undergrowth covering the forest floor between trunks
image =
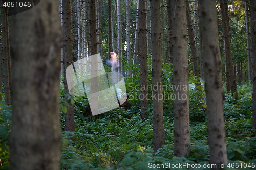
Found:
[[[169,81],[166,79],[166,81]],[[136,81],[135,81],[136,82]],[[190,83],[193,84],[193,81]],[[130,87],[127,87],[129,91]],[[168,89],[167,89],[168,90]],[[227,137],[227,154],[230,167],[225,169],[256,169],[256,137],[252,136],[252,87],[238,86],[239,99],[225,92],[224,116]],[[136,91],[131,95],[135,94]],[[172,90],[169,90],[172,92]],[[139,100],[131,100],[132,108],[116,108],[91,119],[86,113],[87,99],[72,98],[74,103],[76,132],[62,132],[61,169],[170,169],[181,163],[190,165],[209,164],[207,145],[207,114],[203,87],[190,88],[190,156],[178,158],[173,155],[174,120],[172,101],[167,107],[164,102],[165,145],[153,152],[152,102],[147,108],[147,119],[140,118]],[[200,96],[199,96],[200,95]],[[60,122],[64,126],[64,112],[67,103],[60,96]],[[8,134],[11,126],[11,107],[0,103],[0,169],[9,169]],[[75,139],[75,140],[73,140]],[[249,165],[246,168],[232,168],[231,165]],[[168,167],[151,165],[164,164]],[[209,168],[171,168],[209,169]]]

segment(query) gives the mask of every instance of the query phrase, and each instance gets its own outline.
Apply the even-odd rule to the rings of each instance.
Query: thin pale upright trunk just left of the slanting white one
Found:
[[[127,65],[131,64],[131,38],[130,38],[130,1],[126,0],[126,42]],[[131,76],[131,70],[127,69],[127,76]]]

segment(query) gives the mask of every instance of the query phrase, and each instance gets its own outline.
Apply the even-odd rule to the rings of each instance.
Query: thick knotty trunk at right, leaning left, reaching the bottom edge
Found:
[[[202,12],[203,58],[208,119],[210,164],[227,164],[226,135],[223,114],[222,60],[219,49],[216,2],[200,0]]]

